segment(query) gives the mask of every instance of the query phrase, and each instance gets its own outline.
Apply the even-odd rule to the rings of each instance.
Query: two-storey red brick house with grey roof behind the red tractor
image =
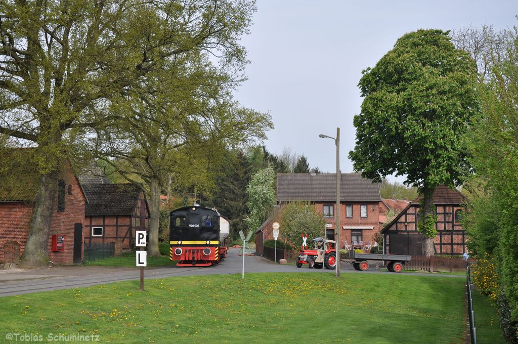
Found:
[[[277,202],[310,201],[326,222],[326,237],[335,240],[336,174],[277,174]],[[379,186],[358,173],[342,173],[340,179],[340,247],[344,242],[372,241],[380,231]],[[268,238],[265,237],[265,240]]]

